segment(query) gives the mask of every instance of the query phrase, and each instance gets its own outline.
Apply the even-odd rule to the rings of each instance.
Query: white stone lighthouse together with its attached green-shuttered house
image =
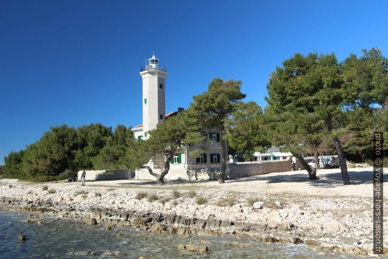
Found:
[[[133,136],[138,141],[147,140],[148,132],[156,128],[158,123],[183,111],[166,114],[166,77],[167,67],[161,66],[159,60],[153,55],[148,60],[149,64],[142,67],[140,75],[143,78],[143,123],[132,128]],[[210,132],[209,138],[213,140],[210,144],[212,151],[202,154],[200,157],[191,157],[186,147],[176,150],[171,160],[169,173],[165,179],[216,179],[216,171],[220,170],[220,156],[222,148],[220,145],[220,133]],[[160,173],[161,168],[157,161],[150,161],[149,165],[154,172]],[[147,169],[139,169],[135,172],[135,179],[154,179]]]

